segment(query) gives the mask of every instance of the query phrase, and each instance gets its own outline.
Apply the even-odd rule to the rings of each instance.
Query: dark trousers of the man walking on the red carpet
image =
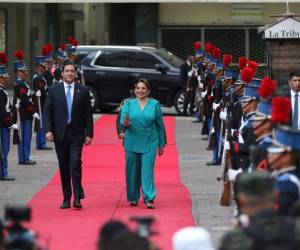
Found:
[[[84,198],[84,192],[81,186],[81,154],[83,141],[80,138],[81,136],[74,134],[72,128],[68,126],[63,140],[61,142],[55,142],[62,191],[65,200],[71,199],[72,188],[75,199]]]

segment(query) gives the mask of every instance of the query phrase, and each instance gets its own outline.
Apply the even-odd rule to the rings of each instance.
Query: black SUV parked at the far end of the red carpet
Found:
[[[110,110],[130,96],[137,78],[149,80],[151,96],[182,113],[181,59],[164,49],[135,46],[78,46],[84,83],[94,110]]]

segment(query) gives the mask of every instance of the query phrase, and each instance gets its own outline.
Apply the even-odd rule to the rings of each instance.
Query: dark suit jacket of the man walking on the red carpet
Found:
[[[66,132],[68,119],[63,82],[50,87],[44,111],[46,132],[53,133],[55,142],[62,141]],[[73,133],[82,142],[86,136],[93,137],[93,112],[89,91],[85,86],[77,83],[74,85],[71,126]]]

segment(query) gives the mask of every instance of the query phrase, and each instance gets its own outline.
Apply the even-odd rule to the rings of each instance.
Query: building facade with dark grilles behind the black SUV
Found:
[[[38,1],[42,2],[42,1]],[[194,41],[213,42],[223,53],[266,63],[259,26],[286,12],[285,3],[1,3],[0,50],[10,60],[23,49],[32,65],[44,43],[58,47],[74,36],[81,44],[151,45],[179,57]],[[300,13],[300,3],[290,3]]]

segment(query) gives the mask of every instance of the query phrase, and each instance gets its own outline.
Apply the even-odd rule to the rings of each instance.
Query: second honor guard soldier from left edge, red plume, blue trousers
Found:
[[[35,161],[30,159],[30,147],[32,138],[32,118],[38,119],[38,113],[34,112],[32,93],[26,79],[28,77],[27,67],[24,62],[24,52],[15,51],[18,59],[13,63],[15,72],[14,101],[17,123],[20,124],[20,140],[18,143],[19,164],[34,165]]]

